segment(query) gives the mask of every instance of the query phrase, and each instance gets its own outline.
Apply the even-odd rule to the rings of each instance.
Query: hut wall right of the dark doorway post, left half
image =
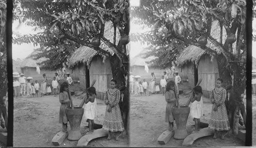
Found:
[[[96,88],[97,97],[103,99],[105,91],[110,88],[110,80],[112,79],[110,60],[106,59],[103,63],[101,57],[94,57],[89,72],[90,83],[92,83],[92,80],[96,80],[94,87]]]

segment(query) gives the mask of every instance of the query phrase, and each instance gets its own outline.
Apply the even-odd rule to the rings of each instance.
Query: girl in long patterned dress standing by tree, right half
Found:
[[[221,131],[221,139],[225,139],[225,134],[230,129],[225,106],[226,89],[221,87],[222,79],[216,81],[216,88],[212,90],[210,101],[213,104],[209,121],[209,128],[215,130],[214,139],[217,138],[217,131]]]

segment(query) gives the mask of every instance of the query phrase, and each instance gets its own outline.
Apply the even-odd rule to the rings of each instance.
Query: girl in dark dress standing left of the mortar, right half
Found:
[[[165,121],[169,123],[169,131],[174,129],[174,115],[172,108],[176,106],[176,97],[175,97],[175,82],[169,81],[166,85],[165,92],[165,101],[167,102],[166,111],[165,111]]]

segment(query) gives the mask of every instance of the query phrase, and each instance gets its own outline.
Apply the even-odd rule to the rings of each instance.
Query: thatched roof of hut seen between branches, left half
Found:
[[[113,23],[111,21],[105,22],[104,37],[113,43],[114,28],[113,28]],[[117,30],[116,31],[116,43],[118,43],[119,38],[120,38],[120,33]],[[100,48],[102,48],[106,52],[109,52],[111,55],[114,55],[114,52],[111,50],[111,48],[102,41],[100,44]],[[130,49],[128,44],[126,45],[126,49],[127,50]],[[77,50],[71,55],[71,57],[69,59],[69,67],[74,67],[79,62],[87,63],[87,65],[89,67],[93,57],[95,57],[97,55],[102,56],[103,62],[104,62],[104,60],[106,58],[104,55],[93,50],[93,48],[90,48],[87,46],[81,46],[81,47],[77,48]]]

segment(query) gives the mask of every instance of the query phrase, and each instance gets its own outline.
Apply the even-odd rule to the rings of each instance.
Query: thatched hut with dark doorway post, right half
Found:
[[[190,88],[193,88],[202,78],[200,86],[206,97],[210,96],[212,89],[215,88],[215,82],[219,78],[216,58],[195,45],[184,48],[178,57],[175,69],[182,79],[188,80]]]

